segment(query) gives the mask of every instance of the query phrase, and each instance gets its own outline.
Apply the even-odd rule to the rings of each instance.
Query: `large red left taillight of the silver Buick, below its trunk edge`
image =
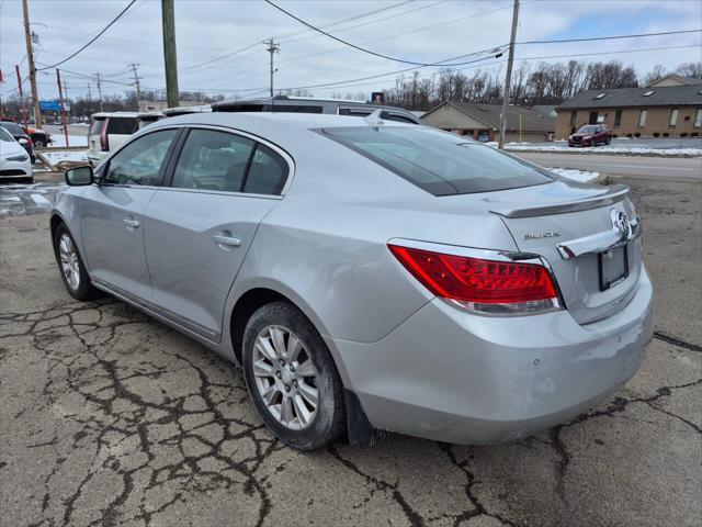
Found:
[[[519,314],[559,309],[548,270],[539,264],[498,261],[388,245],[429,291],[471,311]]]

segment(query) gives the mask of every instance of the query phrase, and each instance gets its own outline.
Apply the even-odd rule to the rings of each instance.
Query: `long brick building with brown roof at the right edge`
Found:
[[[702,79],[669,75],[645,88],[581,91],[557,108],[556,139],[585,124],[605,124],[613,137],[702,135]]]

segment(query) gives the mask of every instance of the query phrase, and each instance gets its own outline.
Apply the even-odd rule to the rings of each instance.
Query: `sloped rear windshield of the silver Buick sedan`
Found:
[[[339,127],[321,133],[434,195],[489,192],[553,181],[534,165],[429,127]]]

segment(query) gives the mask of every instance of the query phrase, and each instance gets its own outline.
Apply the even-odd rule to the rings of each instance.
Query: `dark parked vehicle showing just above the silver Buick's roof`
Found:
[[[212,103],[213,112],[329,113],[333,115],[366,117],[376,110],[381,110],[381,117],[386,121],[422,124],[416,115],[401,108],[342,99],[276,96],[273,99],[250,99]]]

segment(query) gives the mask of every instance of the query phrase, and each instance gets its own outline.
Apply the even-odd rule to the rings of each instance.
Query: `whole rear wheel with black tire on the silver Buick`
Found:
[[[343,390],[331,354],[292,304],[273,302],[253,313],[242,366],[256,410],[285,445],[313,450],[343,433]]]

